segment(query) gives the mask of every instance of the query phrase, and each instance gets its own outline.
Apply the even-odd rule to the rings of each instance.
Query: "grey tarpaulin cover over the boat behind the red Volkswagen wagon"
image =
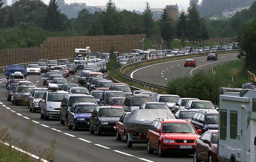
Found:
[[[134,132],[147,134],[148,128],[156,118],[175,119],[171,110],[164,109],[138,109],[126,115],[123,119],[123,126]]]

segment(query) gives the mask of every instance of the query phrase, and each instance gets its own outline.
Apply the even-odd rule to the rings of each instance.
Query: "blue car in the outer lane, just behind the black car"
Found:
[[[89,129],[91,113],[98,106],[98,104],[91,102],[75,102],[70,108],[67,118],[69,129]]]

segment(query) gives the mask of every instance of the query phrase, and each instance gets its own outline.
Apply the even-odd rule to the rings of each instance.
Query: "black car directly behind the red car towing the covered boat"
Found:
[[[91,113],[90,133],[116,133],[116,123],[125,111],[120,107],[97,107]]]

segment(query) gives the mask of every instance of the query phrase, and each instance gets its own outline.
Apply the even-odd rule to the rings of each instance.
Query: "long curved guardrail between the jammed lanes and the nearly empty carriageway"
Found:
[[[148,60],[130,63],[128,65],[123,66],[120,69],[120,75],[123,78],[125,78],[126,80],[133,81],[142,87],[144,86],[144,87],[148,87],[148,88],[155,89],[155,90],[157,90],[157,89],[166,90],[167,87],[165,87],[165,86],[159,86],[157,84],[150,84],[150,83],[146,83],[146,82],[143,82],[140,80],[136,80],[136,79],[126,76],[125,73],[130,71],[131,69],[139,68],[139,67],[146,66],[146,65],[153,65],[156,63],[163,63],[163,62],[181,60],[181,59],[186,59],[186,58],[203,57],[203,56],[207,56],[209,53],[216,53],[218,55],[222,55],[222,54],[231,54],[231,53],[240,53],[240,52],[241,52],[241,49],[235,49],[235,50],[229,50],[229,51],[201,52],[201,53],[197,53],[197,54],[176,55],[176,56],[148,59]]]

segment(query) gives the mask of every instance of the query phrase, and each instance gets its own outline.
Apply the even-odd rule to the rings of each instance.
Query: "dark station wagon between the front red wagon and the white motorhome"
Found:
[[[203,134],[207,130],[219,129],[219,112],[218,111],[198,111],[190,121],[196,130],[201,129]]]

